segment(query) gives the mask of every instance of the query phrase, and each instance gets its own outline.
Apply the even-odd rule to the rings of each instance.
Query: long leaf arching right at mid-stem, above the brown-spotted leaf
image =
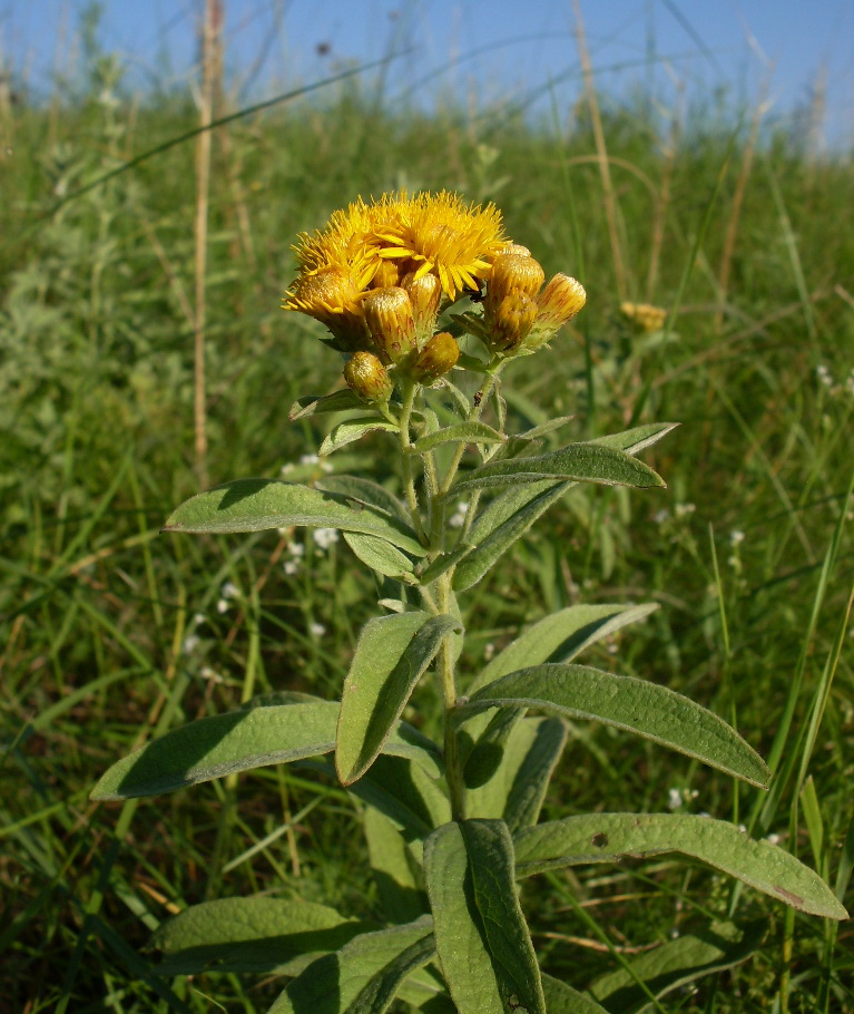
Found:
[[[695,757],[727,774],[764,786],[768,769],[727,723],[688,698],[634,676],[587,665],[546,663],[490,683],[458,706],[464,721],[485,708],[541,708],[575,719],[595,719]]]

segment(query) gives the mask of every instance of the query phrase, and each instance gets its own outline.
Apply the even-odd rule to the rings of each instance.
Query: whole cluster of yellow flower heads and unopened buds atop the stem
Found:
[[[457,333],[475,334],[492,360],[536,351],[586,299],[567,275],[543,287],[542,267],[504,235],[494,205],[445,192],[360,198],[294,250],[300,274],[285,309],[328,329],[347,384],[380,406],[396,377],[432,384],[457,364],[457,339],[436,319],[461,296],[482,301],[483,313],[454,318]]]

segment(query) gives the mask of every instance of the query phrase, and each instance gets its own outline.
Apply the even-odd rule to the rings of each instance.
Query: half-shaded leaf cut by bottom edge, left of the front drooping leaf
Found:
[[[268,1014],[383,1014],[406,976],[434,954],[430,916],[364,933],[308,965]]]

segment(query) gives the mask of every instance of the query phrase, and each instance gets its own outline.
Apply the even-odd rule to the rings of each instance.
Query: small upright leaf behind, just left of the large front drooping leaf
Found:
[[[373,807],[363,815],[367,857],[380,903],[390,923],[409,923],[428,910],[416,865],[397,828]]]

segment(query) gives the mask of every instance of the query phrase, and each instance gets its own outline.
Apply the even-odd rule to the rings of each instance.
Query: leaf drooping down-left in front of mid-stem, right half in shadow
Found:
[[[370,620],[344,680],[335,768],[349,786],[371,767],[419,679],[435,657],[452,616],[399,613]]]

